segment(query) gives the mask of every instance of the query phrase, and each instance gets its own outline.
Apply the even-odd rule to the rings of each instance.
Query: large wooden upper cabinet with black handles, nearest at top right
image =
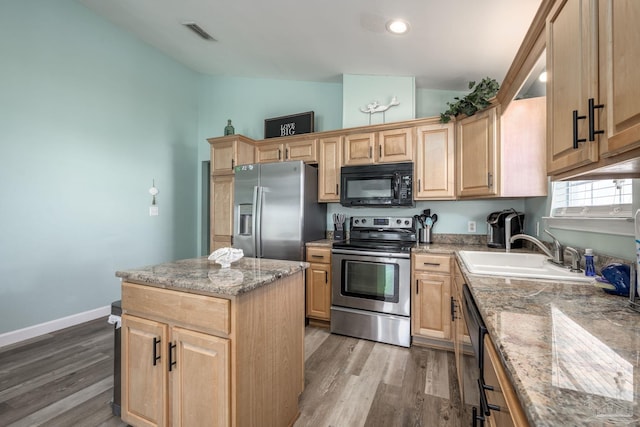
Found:
[[[639,18],[635,0],[554,4],[547,19],[553,178],[640,176]]]

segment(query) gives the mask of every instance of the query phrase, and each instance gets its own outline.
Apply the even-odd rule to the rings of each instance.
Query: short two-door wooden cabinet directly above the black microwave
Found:
[[[344,137],[344,165],[410,162],[413,128],[348,134]]]

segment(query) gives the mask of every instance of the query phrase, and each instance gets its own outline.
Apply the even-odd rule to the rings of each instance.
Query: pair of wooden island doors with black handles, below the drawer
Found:
[[[130,315],[123,332],[125,421],[229,425],[228,339]]]

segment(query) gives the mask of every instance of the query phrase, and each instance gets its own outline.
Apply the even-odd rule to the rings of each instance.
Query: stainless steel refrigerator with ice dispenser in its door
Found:
[[[236,166],[233,203],[233,247],[247,257],[303,261],[305,243],[325,238],[318,169],[302,161]]]

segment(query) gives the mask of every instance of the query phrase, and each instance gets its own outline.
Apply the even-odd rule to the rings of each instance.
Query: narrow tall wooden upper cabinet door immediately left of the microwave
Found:
[[[319,143],[318,201],[339,202],[342,137],[321,138]]]

